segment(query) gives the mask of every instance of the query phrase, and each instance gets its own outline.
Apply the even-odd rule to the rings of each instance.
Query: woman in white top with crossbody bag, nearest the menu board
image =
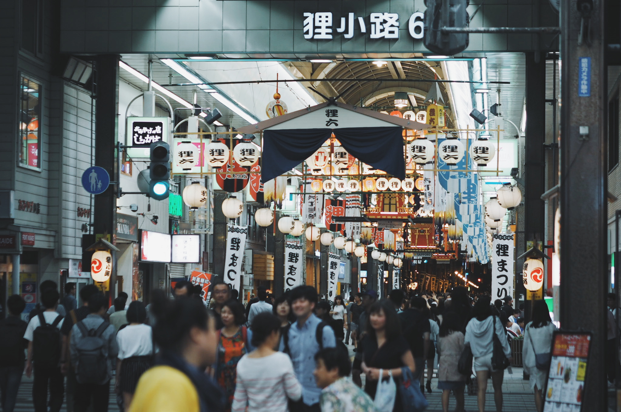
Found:
[[[533,304],[533,320],[524,328],[524,369],[530,375],[530,388],[535,390],[535,406],[537,411],[543,411],[542,388],[548,380],[548,369],[537,368],[535,355],[550,353],[552,333],[556,326],[550,318],[548,305],[544,300],[535,300]]]

